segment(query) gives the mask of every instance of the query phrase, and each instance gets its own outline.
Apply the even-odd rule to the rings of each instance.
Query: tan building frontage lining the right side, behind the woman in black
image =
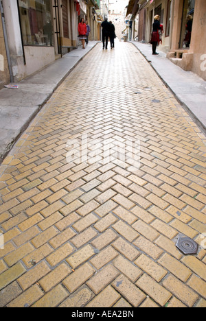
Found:
[[[128,13],[139,16],[138,40],[149,43],[154,16],[163,24],[159,49],[182,69],[206,80],[206,1],[205,0],[130,0]]]

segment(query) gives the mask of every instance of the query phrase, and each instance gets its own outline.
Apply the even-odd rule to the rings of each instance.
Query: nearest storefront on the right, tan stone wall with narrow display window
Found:
[[[172,0],[172,37],[168,58],[206,80],[206,1]]]

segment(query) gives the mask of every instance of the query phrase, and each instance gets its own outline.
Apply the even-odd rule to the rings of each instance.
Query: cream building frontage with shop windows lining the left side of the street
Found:
[[[98,40],[95,0],[1,0],[10,58],[10,79],[14,82],[32,75],[79,45],[78,23],[84,17],[91,25],[91,40]],[[3,37],[0,21],[0,37]],[[2,51],[2,53],[1,53]],[[8,70],[3,42],[1,79]],[[2,58],[3,56],[3,58]],[[2,69],[2,67],[1,67]]]

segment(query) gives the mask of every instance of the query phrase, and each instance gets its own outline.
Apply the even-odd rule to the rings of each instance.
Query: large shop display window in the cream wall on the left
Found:
[[[18,0],[21,34],[25,46],[52,46],[51,0]]]

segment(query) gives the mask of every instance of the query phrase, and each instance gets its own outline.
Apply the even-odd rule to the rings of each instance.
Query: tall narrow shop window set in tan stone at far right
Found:
[[[183,1],[183,15],[179,47],[190,49],[195,0]]]

